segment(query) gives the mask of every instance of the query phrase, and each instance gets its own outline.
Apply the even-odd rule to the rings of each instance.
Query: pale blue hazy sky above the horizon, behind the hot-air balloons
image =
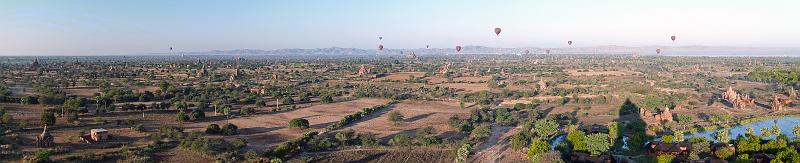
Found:
[[[0,55],[455,45],[800,46],[798,0],[0,0]],[[493,28],[501,27],[500,36]],[[673,44],[670,35],[677,35]]]

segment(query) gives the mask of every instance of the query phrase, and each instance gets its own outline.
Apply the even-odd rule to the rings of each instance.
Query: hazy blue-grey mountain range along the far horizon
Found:
[[[800,48],[782,47],[718,47],[718,46],[595,46],[562,48],[494,48],[485,46],[464,46],[461,54],[575,54],[575,55],[662,55],[670,56],[800,56]],[[416,55],[458,54],[454,48],[419,49],[358,49],[358,48],[315,48],[315,49],[235,49],[204,52],[151,53],[148,55],[402,55],[413,52]]]

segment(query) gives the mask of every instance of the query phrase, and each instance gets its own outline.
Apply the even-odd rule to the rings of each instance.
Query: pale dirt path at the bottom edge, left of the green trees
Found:
[[[509,148],[506,138],[519,132],[519,129],[492,124],[492,136],[475,149],[470,162],[499,162]]]

